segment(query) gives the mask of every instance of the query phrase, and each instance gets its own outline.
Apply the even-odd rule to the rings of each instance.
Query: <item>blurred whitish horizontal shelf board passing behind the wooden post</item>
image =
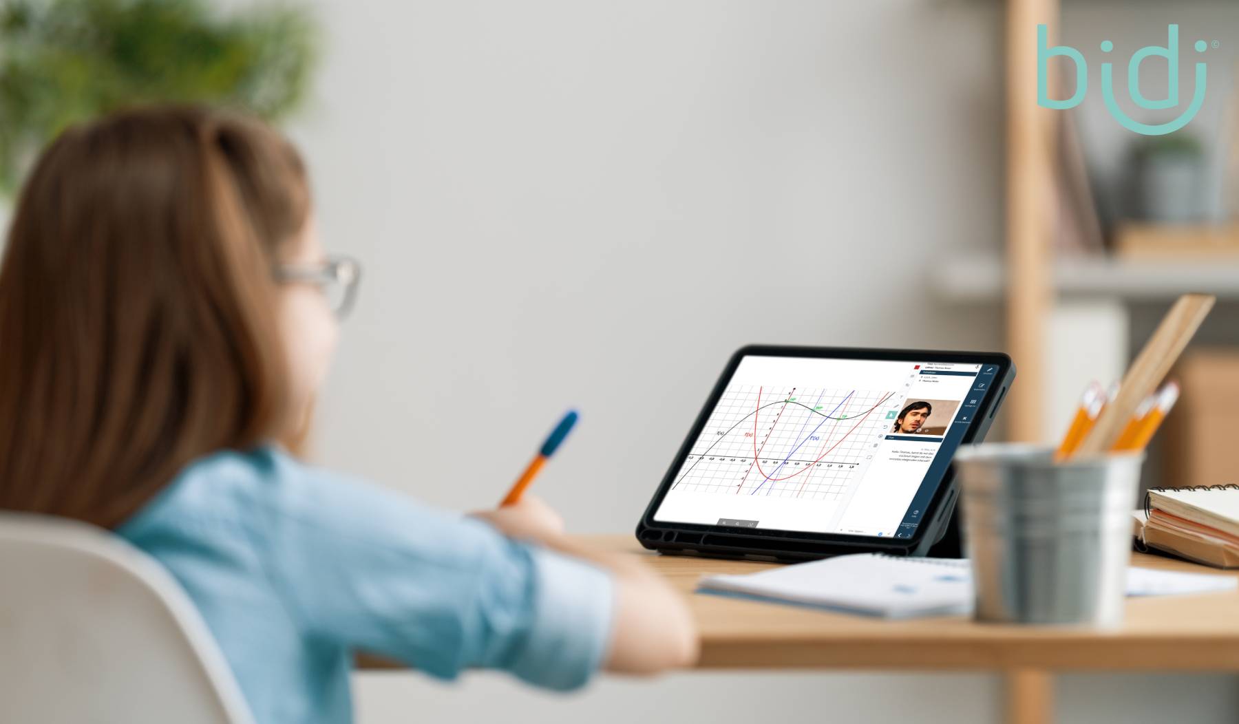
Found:
[[[1239,254],[1140,259],[1059,258],[1052,267],[1059,298],[1108,296],[1131,301],[1171,300],[1184,291],[1239,299]],[[997,254],[954,254],[932,269],[935,294],[959,302],[1005,299],[1006,264]]]

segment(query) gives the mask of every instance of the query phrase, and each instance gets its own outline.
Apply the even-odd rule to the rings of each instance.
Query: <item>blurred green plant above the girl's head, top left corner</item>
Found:
[[[0,0],[0,195],[66,126],[155,102],[223,104],[279,120],[317,57],[306,10],[203,0]]]

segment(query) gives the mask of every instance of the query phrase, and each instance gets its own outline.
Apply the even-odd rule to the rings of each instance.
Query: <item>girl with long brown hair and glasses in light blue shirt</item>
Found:
[[[354,650],[555,689],[690,663],[683,599],[536,500],[445,514],[276,444],[304,428],[357,281],[260,123],[175,107],[66,131],[0,268],[0,508],[159,559],[260,723],[349,722]]]

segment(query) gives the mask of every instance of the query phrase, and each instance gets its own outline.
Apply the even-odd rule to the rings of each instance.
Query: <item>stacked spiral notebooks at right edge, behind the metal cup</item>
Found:
[[[1151,488],[1135,536],[1137,547],[1239,568],[1239,485]]]

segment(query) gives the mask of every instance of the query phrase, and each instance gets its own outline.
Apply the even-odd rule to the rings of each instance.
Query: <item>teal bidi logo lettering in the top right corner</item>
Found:
[[[1217,46],[1217,43],[1213,43]],[[1203,40],[1196,41],[1193,46],[1196,52],[1203,53],[1209,46]],[[1114,43],[1104,40],[1101,41],[1101,52],[1109,53],[1114,50]],[[1070,58],[1075,63],[1075,93],[1070,98],[1058,100],[1049,97],[1047,89],[1046,74],[1049,66],[1049,58],[1054,56],[1063,56]],[[1158,56],[1166,58],[1166,63],[1170,66],[1166,81],[1166,97],[1165,98],[1145,98],[1140,92],[1140,63],[1145,58],[1152,56]],[[1170,120],[1167,123],[1160,124],[1147,124],[1135,120],[1127,115],[1114,99],[1114,69],[1111,63],[1101,63],[1101,98],[1105,100],[1105,107],[1110,112],[1110,115],[1118,120],[1123,128],[1127,130],[1134,130],[1145,135],[1163,135],[1168,133],[1175,133],[1176,130],[1183,128],[1193,118],[1196,113],[1204,104],[1204,84],[1207,68],[1203,62],[1196,63],[1196,90],[1192,93],[1192,102],[1188,104],[1187,110],[1184,110],[1178,118]],[[1064,109],[1074,108],[1084,100],[1084,93],[1088,90],[1088,63],[1084,61],[1083,53],[1070,46],[1054,46],[1049,47],[1048,31],[1044,25],[1037,26],[1037,105],[1043,108]],[[1165,46],[1146,46],[1136,51],[1131,60],[1127,61],[1127,93],[1131,94],[1131,100],[1135,102],[1140,108],[1147,108],[1150,110],[1176,108],[1178,105],[1178,26],[1171,25],[1167,27],[1167,41]]]

